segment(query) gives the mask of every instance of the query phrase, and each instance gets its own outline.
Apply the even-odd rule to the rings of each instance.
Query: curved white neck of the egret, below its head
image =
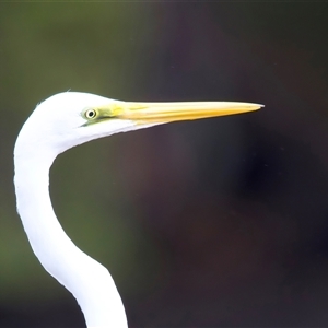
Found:
[[[127,327],[125,308],[108,270],[72,243],[52,210],[48,186],[55,156],[36,152],[16,144],[14,156],[17,211],[35,255],[74,295],[87,327]]]

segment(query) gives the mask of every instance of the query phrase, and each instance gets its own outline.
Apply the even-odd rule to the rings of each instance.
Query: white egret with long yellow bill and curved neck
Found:
[[[40,103],[14,148],[17,211],[44,268],[77,298],[87,327],[127,327],[125,308],[108,270],[67,236],[52,210],[49,168],[56,156],[83,142],[148,128],[256,110],[249,103],[131,103],[66,92]]]

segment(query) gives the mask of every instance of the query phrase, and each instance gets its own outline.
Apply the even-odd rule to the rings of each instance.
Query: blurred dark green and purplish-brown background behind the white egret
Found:
[[[83,327],[15,212],[12,151],[68,90],[265,109],[93,141],[50,173],[130,327],[328,326],[326,2],[0,3],[0,326]]]

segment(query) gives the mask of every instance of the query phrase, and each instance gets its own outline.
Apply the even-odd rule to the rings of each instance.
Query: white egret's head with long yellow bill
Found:
[[[40,103],[23,126],[16,148],[51,156],[84,142],[154,125],[256,110],[233,102],[133,103],[66,92]]]

